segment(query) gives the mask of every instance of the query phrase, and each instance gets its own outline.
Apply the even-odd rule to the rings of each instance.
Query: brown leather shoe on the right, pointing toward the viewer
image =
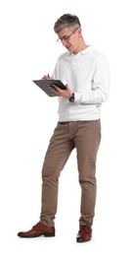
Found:
[[[89,224],[80,225],[78,234],[76,236],[76,242],[87,242],[91,240],[92,228]]]

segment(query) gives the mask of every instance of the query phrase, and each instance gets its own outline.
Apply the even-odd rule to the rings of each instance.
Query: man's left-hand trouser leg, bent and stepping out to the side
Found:
[[[73,150],[67,124],[58,123],[50,140],[42,168],[42,207],[40,223],[53,226],[58,204],[58,185],[61,170]]]

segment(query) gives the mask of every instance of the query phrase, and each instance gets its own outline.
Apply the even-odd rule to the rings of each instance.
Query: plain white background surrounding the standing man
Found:
[[[133,255],[131,0],[2,0],[0,2],[1,255]],[[66,49],[53,31],[64,13],[79,17],[86,43],[111,65],[111,95],[102,111],[93,239],[77,244],[80,188],[75,151],[60,178],[55,238],[17,233],[40,215],[41,167],[58,121],[58,100],[33,83],[52,74]]]

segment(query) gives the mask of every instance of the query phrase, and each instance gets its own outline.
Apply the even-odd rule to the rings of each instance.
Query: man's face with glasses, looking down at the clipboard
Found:
[[[69,52],[76,54],[80,49],[81,29],[64,28],[58,32],[59,39]]]

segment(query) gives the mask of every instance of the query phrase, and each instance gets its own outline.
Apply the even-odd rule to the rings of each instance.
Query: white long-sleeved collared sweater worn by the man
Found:
[[[92,46],[77,54],[66,52],[57,62],[54,79],[74,93],[74,102],[59,96],[59,121],[97,120],[110,90],[110,67],[105,56]]]

